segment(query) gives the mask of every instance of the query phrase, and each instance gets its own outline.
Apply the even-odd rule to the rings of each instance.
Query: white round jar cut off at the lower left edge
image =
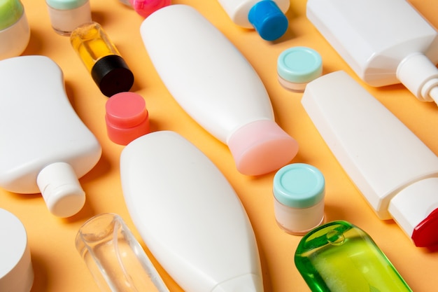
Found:
[[[34,283],[27,233],[21,221],[0,209],[0,291],[29,292]]]

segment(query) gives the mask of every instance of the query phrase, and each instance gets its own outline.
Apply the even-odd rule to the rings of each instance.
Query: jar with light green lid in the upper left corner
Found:
[[[21,1],[0,1],[0,60],[21,55],[29,39],[29,23]]]

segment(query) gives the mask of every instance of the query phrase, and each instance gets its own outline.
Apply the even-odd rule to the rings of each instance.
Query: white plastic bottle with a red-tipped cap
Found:
[[[302,105],[377,216],[438,244],[437,155],[344,71],[311,81]]]

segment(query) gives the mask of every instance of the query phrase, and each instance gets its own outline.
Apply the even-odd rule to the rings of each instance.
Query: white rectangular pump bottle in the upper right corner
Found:
[[[438,103],[438,32],[408,1],[309,0],[307,18],[369,85]]]

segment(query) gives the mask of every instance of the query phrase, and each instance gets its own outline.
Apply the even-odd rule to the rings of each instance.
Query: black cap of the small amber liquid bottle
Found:
[[[107,97],[127,92],[134,84],[134,74],[119,55],[108,55],[99,59],[91,69],[91,76]]]

